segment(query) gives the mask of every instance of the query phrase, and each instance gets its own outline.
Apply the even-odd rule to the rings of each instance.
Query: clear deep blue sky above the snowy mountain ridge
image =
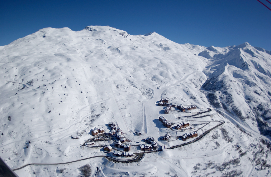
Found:
[[[271,11],[257,0],[0,0],[0,46],[45,27],[79,31],[89,25],[109,25],[131,35],[155,31],[180,44],[249,42],[271,50]]]

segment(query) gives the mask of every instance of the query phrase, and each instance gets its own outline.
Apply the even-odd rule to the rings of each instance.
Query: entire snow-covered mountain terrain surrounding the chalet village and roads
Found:
[[[85,164],[92,176],[270,176],[270,53],[248,43],[182,45],[155,32],[133,36],[108,26],[41,29],[0,47],[0,156],[12,169],[58,164],[29,165],[15,171],[19,176],[77,176]],[[161,98],[197,109],[165,115]],[[159,116],[172,126],[189,121],[207,134],[168,149],[192,130],[166,128]],[[160,151],[126,164],[81,160],[107,156],[82,145],[95,127],[109,132],[110,121],[127,144],[151,136]],[[161,140],[167,133],[169,141]],[[81,161],[59,164],[74,160]]]

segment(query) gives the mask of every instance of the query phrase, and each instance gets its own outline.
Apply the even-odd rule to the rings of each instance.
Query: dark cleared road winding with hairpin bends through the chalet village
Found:
[[[194,115],[191,115],[191,116],[183,116],[183,117],[193,117],[193,116],[197,116],[197,115],[200,115],[200,114],[203,114],[203,113],[206,113],[206,112],[210,112],[211,109],[210,108],[207,108],[208,111],[204,111],[204,112],[199,112],[197,114],[194,114]],[[210,115],[205,115],[205,116],[210,116]],[[199,116],[199,117],[193,117],[193,118],[200,118],[200,117],[205,117],[205,116]],[[178,118],[183,118],[183,117],[178,117]],[[189,141],[187,143],[183,143],[183,144],[180,144],[180,145],[175,145],[175,146],[171,146],[169,148],[165,148],[165,149],[174,149],[174,148],[178,148],[178,147],[181,147],[181,146],[185,146],[185,145],[189,145],[189,144],[192,144],[194,142],[197,142],[198,140],[200,140],[202,137],[204,137],[205,135],[207,135],[210,131],[214,130],[215,128],[219,127],[220,125],[224,124],[225,121],[223,120],[219,120],[218,122],[221,122],[220,124],[212,127],[211,129],[205,131],[202,135],[200,135],[199,137],[197,137],[196,139],[192,140],[192,141]],[[87,142],[87,141],[86,141]],[[85,143],[83,144],[84,146]],[[89,147],[89,146],[86,146],[86,147]],[[99,146],[99,147],[103,147],[102,146]],[[17,168],[17,169],[13,169],[13,171],[16,171],[16,170],[20,170],[26,166],[29,166],[29,165],[63,165],[63,164],[69,164],[69,163],[74,163],[74,162],[79,162],[79,161],[82,161],[82,160],[88,160],[88,159],[92,159],[92,158],[97,158],[97,157],[105,157],[107,160],[109,161],[112,161],[112,162],[115,162],[115,163],[133,163],[133,162],[138,162],[140,161],[145,154],[147,153],[155,153],[155,152],[158,152],[158,151],[163,151],[163,149],[160,149],[160,150],[154,150],[154,151],[146,151],[146,152],[140,152],[140,153],[134,153],[135,154],[135,157],[132,158],[132,159],[129,159],[129,160],[120,160],[120,159],[116,159],[116,158],[113,158],[113,157],[110,157],[110,156],[106,156],[106,155],[97,155],[97,156],[93,156],[93,157],[88,157],[88,158],[84,158],[84,159],[79,159],[79,160],[74,160],[74,161],[69,161],[69,162],[63,162],[63,163],[54,163],[54,164],[26,164],[20,168]]]

